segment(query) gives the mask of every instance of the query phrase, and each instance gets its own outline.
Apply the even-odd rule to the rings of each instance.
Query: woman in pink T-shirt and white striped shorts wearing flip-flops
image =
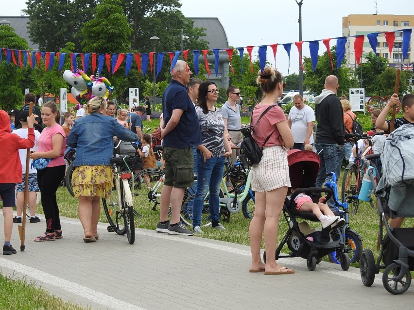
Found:
[[[271,67],[259,71],[257,79],[264,98],[256,105],[252,113],[252,124],[256,124],[259,116],[271,105],[272,107],[260,118],[255,127],[253,138],[263,149],[263,157],[259,164],[253,165],[250,173],[252,190],[256,192],[255,214],[250,222],[250,249],[252,264],[249,272],[264,271],[265,275],[293,274],[294,270],[276,262],[277,224],[282,212],[288,187],[289,167],[287,148],[293,147],[293,136],[283,110],[276,105],[286,86],[279,72]],[[264,232],[266,249],[266,265],[261,261],[260,245]]]

